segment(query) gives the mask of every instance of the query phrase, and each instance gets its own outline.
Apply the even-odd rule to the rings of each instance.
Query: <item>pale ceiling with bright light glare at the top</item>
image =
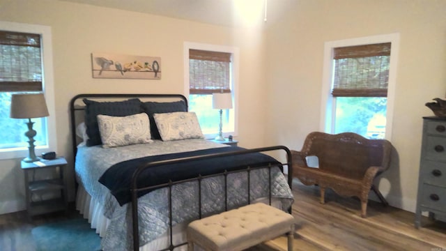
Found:
[[[265,27],[296,0],[59,0],[223,26]],[[265,22],[266,17],[266,22]]]

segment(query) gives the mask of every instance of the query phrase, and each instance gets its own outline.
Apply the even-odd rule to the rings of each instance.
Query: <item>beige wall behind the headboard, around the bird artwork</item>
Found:
[[[51,26],[54,55],[56,130],[59,155],[72,162],[68,102],[78,93],[183,93],[183,43],[240,49],[240,145],[265,144],[266,106],[263,34],[167,17],[47,0],[0,0],[0,20]],[[93,79],[91,53],[160,56],[161,80]],[[50,132],[51,133],[51,132]],[[70,199],[74,199],[70,165]],[[24,209],[20,160],[0,161],[0,213]]]

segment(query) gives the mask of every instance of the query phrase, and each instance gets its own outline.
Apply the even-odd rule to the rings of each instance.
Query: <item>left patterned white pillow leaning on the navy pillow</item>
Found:
[[[98,115],[102,147],[151,143],[151,126],[146,113],[130,116]]]

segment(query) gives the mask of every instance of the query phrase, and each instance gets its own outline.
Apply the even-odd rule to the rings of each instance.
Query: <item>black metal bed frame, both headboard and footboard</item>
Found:
[[[76,102],[79,99],[82,98],[93,98],[95,100],[101,100],[101,99],[110,99],[110,98],[116,98],[119,100],[123,100],[123,99],[128,99],[128,98],[177,98],[180,100],[185,101],[185,104],[187,106],[187,98],[185,98],[185,96],[181,95],[181,94],[79,94],[75,97],[73,97],[70,100],[70,119],[71,119],[71,132],[72,132],[72,147],[73,147],[73,159],[76,156],[76,152],[77,152],[77,135],[76,135],[76,127],[77,127],[77,123],[76,123],[76,112],[82,112],[85,109],[85,106],[81,105],[81,106],[76,106]],[[207,175],[207,176],[197,176],[196,178],[189,178],[186,180],[182,180],[182,181],[169,181],[169,183],[164,183],[164,184],[160,184],[160,185],[153,185],[153,186],[148,186],[148,187],[144,187],[144,188],[138,188],[137,186],[137,179],[139,177],[139,174],[141,174],[142,172],[144,172],[145,169],[154,167],[154,166],[160,166],[160,165],[172,165],[172,164],[176,164],[176,163],[180,163],[180,162],[190,162],[190,161],[194,161],[194,160],[205,160],[205,159],[210,159],[210,158],[217,158],[217,157],[225,157],[225,156],[230,156],[230,155],[243,155],[243,154],[247,154],[247,153],[261,153],[261,152],[266,152],[266,151],[280,151],[283,150],[286,153],[286,163],[282,163],[282,166],[287,166],[288,167],[288,184],[289,187],[292,188],[292,180],[293,180],[293,176],[292,176],[292,163],[291,163],[291,151],[286,147],[286,146],[268,146],[268,147],[262,147],[262,148],[257,148],[257,149],[245,149],[243,151],[231,151],[231,152],[226,152],[226,153],[213,153],[213,154],[208,154],[208,155],[200,155],[200,156],[194,156],[194,157],[188,157],[188,158],[178,158],[178,159],[174,159],[174,160],[162,160],[162,161],[157,161],[157,162],[149,162],[146,163],[146,165],[142,165],[140,167],[138,167],[132,176],[132,188],[129,191],[132,195],[132,238],[133,238],[133,250],[139,250],[139,226],[138,226],[138,192],[144,191],[144,190],[153,190],[155,188],[168,188],[169,192],[169,247],[168,248],[164,248],[163,250],[160,251],[164,251],[164,250],[174,250],[174,248],[178,248],[179,246],[182,245],[186,245],[186,243],[179,243],[178,245],[174,245],[174,241],[173,241],[173,233],[172,233],[172,229],[173,229],[173,225],[172,225],[172,197],[171,197],[171,189],[174,185],[180,184],[180,183],[185,183],[185,182],[190,182],[190,181],[198,181],[199,184],[199,218],[202,217],[201,215],[201,181],[204,178],[210,178],[210,177],[214,177],[214,176],[224,176],[224,200],[225,200],[225,211],[227,211],[228,209],[228,189],[227,189],[227,176],[229,174],[233,174],[233,173],[238,173],[238,172],[247,172],[247,204],[250,204],[250,172],[254,169],[264,169],[264,168],[268,168],[269,169],[269,196],[268,196],[268,201],[269,204],[271,204],[272,202],[272,195],[271,195],[271,168],[272,167],[277,167],[277,164],[272,166],[272,165],[268,165],[268,167],[249,167],[247,166],[245,169],[240,169],[237,171],[224,171],[222,173],[219,174],[212,174],[212,175]],[[73,165],[74,168],[74,165]],[[283,172],[283,169],[282,169]],[[291,213],[291,206],[289,208],[289,213]]]

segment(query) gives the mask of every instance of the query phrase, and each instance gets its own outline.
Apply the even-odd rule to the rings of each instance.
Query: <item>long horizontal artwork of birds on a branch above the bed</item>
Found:
[[[91,70],[94,78],[161,79],[161,58],[92,53]]]

